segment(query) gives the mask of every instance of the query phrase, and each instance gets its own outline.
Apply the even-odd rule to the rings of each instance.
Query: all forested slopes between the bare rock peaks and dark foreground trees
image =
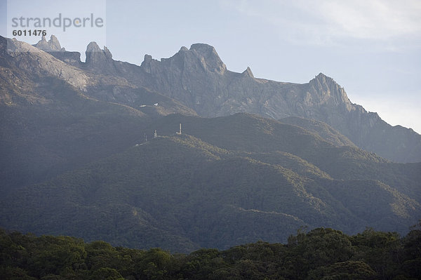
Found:
[[[0,110],[0,227],[189,253],[286,242],[302,226],[406,234],[421,216],[421,164],[337,147],[346,139],[323,124],[163,117],[183,111],[123,81],[89,96],[36,81]]]

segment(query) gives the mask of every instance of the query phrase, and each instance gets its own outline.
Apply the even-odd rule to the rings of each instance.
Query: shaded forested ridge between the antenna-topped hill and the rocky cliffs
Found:
[[[306,161],[312,173],[323,171],[338,180],[379,180],[421,203],[421,163],[396,164],[354,146],[337,147],[304,128],[253,114],[239,113],[215,119],[172,114],[155,121],[150,130],[154,128],[163,135],[171,135],[178,123],[183,124],[185,133],[210,145],[267,154],[265,159],[262,155],[256,156],[259,161],[282,166],[285,160],[276,159],[272,154],[288,153]]]

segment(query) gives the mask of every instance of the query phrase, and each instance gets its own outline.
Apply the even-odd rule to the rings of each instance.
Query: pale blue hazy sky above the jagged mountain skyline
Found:
[[[13,3],[33,14],[72,3],[60,13],[79,15],[91,13],[87,4],[104,1]],[[6,36],[7,5],[0,2]],[[135,64],[146,53],[168,58],[181,46],[206,43],[228,69],[249,66],[260,78],[307,83],[323,72],[345,87],[352,102],[421,133],[420,15],[420,0],[108,0],[102,39],[114,59]],[[91,41],[77,32],[62,32],[58,39],[67,50],[81,52]]]

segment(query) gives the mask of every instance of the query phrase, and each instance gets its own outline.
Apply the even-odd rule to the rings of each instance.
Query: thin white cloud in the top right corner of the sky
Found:
[[[389,49],[421,45],[419,0],[243,0],[222,5],[272,25],[283,39],[298,44],[368,40]]]

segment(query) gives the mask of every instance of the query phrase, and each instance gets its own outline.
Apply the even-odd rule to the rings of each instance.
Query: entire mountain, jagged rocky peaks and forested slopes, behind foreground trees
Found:
[[[257,79],[206,44],[81,62],[51,36],[0,37],[0,75],[1,227],[188,252],[420,218],[421,136],[324,74]]]

